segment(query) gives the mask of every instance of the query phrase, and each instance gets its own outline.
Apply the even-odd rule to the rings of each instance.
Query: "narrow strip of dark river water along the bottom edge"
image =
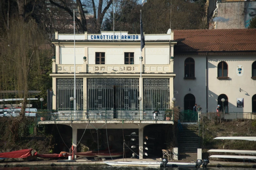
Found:
[[[0,170],[198,170],[198,168],[150,168],[150,167],[122,167],[122,166],[41,166],[41,167],[0,167]],[[200,168],[203,170],[203,168]],[[216,168],[208,167],[204,170],[248,170],[252,168]]]

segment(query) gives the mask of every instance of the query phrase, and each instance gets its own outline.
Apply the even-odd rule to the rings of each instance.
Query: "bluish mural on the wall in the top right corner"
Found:
[[[245,28],[248,28],[250,20],[256,16],[256,1],[245,2],[244,12],[244,24]]]

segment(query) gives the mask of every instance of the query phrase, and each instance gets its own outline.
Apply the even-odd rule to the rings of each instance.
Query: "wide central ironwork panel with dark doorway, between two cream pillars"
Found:
[[[89,110],[138,110],[139,79],[88,78]]]

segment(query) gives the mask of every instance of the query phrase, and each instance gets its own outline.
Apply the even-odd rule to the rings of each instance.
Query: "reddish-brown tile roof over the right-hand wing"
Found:
[[[174,30],[175,52],[253,51],[256,29]]]

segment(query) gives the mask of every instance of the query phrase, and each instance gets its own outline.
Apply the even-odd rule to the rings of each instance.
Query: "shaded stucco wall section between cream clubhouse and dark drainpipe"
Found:
[[[184,61],[191,57],[195,60],[195,80],[184,79]],[[206,56],[175,56],[174,57],[174,97],[176,98],[176,106],[184,110],[184,97],[186,94],[193,94],[196,103],[206,110]],[[189,91],[189,88],[191,91]]]

